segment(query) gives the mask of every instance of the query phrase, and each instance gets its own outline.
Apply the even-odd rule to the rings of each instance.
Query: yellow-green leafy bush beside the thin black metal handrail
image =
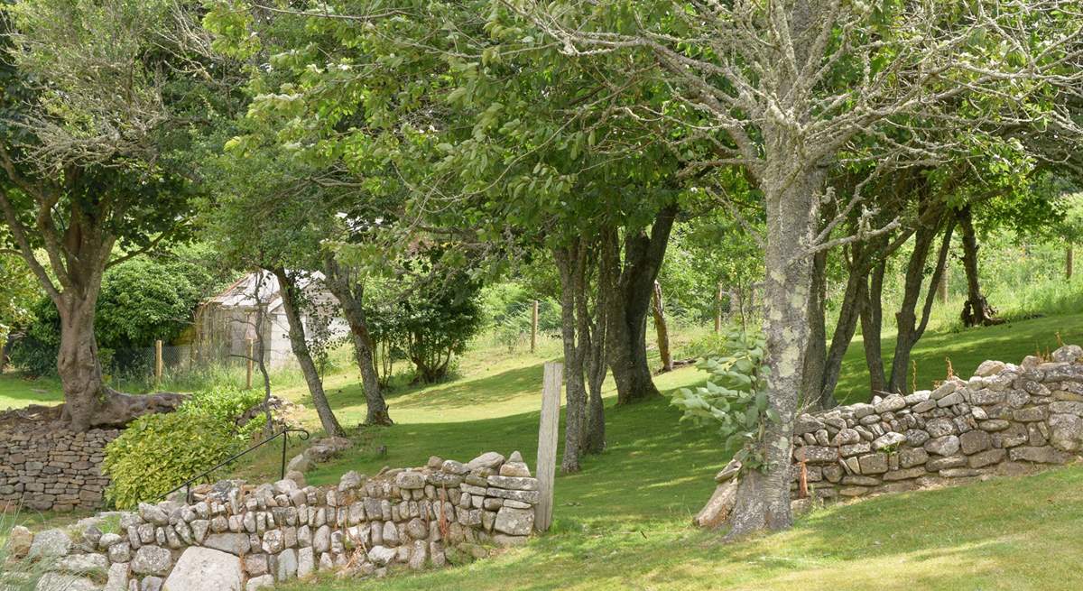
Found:
[[[105,448],[103,472],[113,480],[106,499],[119,509],[130,509],[213,468],[262,428],[262,416],[240,426],[235,422],[261,400],[255,390],[199,392],[175,412],[132,421]]]

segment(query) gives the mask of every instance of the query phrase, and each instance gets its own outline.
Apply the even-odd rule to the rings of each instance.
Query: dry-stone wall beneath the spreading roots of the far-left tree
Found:
[[[101,473],[105,445],[117,430],[74,433],[54,422],[0,426],[0,508],[37,511],[94,509],[109,478]]]

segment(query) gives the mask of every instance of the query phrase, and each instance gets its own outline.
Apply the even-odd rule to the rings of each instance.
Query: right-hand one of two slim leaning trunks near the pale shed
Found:
[[[361,371],[361,383],[365,390],[365,424],[392,424],[388,413],[388,403],[380,391],[380,379],[376,372],[373,354],[373,339],[368,333],[368,323],[365,318],[364,288],[353,280],[347,270],[339,265],[330,254],[324,259],[327,288],[339,301],[342,315],[350,325],[350,338],[353,341],[354,358]]]

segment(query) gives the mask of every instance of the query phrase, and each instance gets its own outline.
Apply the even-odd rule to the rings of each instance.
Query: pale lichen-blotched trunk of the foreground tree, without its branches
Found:
[[[778,165],[777,165],[778,166]],[[782,167],[779,167],[782,168]],[[819,169],[774,170],[764,182],[767,205],[764,332],[767,337],[768,405],[779,422],[768,421],[757,451],[765,470],[745,471],[730,516],[730,537],[790,527],[790,463],[797,394],[808,341],[812,261],[803,257],[819,220],[823,185]]]

